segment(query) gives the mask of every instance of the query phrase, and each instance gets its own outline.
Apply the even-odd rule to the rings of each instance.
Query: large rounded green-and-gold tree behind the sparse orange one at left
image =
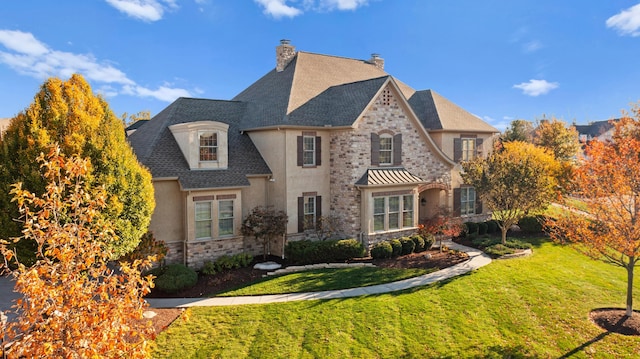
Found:
[[[47,80],[33,103],[13,118],[0,141],[0,238],[20,235],[18,209],[11,203],[11,184],[41,195],[46,182],[33,161],[41,152],[58,143],[62,153],[89,158],[92,171],[86,181],[104,185],[107,206],[103,211],[115,225],[109,245],[115,257],[128,253],[147,231],[155,206],[151,175],[137,161],[126,142],[122,122],[104,99],[95,96],[80,75],[67,81]],[[30,246],[29,246],[30,245]],[[33,244],[18,253],[32,256]]]

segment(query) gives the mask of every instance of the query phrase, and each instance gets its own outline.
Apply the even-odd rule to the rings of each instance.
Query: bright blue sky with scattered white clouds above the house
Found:
[[[275,47],[369,59],[499,129],[584,124],[640,100],[640,3],[624,0],[30,0],[0,11],[0,117],[78,72],[116,115],[231,99]]]

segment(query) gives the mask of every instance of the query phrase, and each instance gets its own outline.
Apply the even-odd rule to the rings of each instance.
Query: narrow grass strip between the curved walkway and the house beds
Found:
[[[242,288],[216,296],[264,295],[280,293],[319,292],[395,282],[435,271],[427,269],[394,269],[356,267],[322,269],[297,272],[278,277],[267,277]]]

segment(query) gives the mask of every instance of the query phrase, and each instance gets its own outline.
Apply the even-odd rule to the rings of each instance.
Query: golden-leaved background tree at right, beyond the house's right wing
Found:
[[[558,161],[573,161],[580,150],[580,136],[574,126],[556,118],[542,120],[533,132],[533,143],[551,151]]]

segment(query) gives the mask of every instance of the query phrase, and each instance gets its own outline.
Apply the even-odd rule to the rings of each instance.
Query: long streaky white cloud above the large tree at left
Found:
[[[68,78],[79,73],[87,81],[101,86],[101,92],[109,97],[122,93],[171,102],[180,96],[190,96],[188,90],[171,88],[167,84],[156,90],[142,87],[107,61],[98,61],[91,54],[49,49],[28,32],[0,30],[0,45],[9,50],[0,51],[0,63],[39,80],[51,76]]]

